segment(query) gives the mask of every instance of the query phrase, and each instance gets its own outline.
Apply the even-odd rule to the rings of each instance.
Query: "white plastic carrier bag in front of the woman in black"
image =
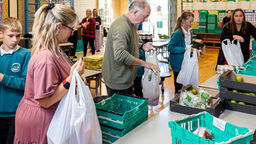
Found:
[[[235,40],[237,41],[236,44],[234,43]],[[227,44],[225,44],[225,42],[227,42]],[[229,39],[225,39],[222,41],[221,46],[228,65],[242,66],[244,64],[244,55],[237,39],[234,39],[232,42],[230,42]]]

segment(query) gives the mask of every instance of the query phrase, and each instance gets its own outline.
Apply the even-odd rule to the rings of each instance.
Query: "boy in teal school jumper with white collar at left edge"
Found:
[[[0,23],[0,142],[13,143],[15,112],[24,95],[30,51],[20,47],[22,26],[16,18]]]

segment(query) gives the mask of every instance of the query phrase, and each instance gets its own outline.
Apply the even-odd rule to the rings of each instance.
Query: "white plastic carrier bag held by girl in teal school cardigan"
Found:
[[[198,86],[199,84],[199,68],[196,49],[193,51],[193,57],[190,57],[191,45],[187,45],[184,53],[184,59],[181,64],[181,70],[177,77],[177,83],[187,86],[189,84]]]

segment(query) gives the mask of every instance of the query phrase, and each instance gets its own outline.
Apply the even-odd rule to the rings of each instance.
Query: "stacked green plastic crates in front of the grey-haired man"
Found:
[[[114,94],[95,103],[102,143],[113,143],[126,133],[147,121],[148,99]]]

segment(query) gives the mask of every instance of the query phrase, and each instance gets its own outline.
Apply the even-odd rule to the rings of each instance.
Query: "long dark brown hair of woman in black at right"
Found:
[[[248,28],[247,28],[247,22],[245,20],[245,14],[244,14],[244,11],[242,9],[236,9],[233,11],[232,13],[232,17],[231,17],[231,20],[230,22],[226,23],[224,25],[224,27],[226,27],[227,29],[229,29],[229,33],[231,34],[236,34],[237,32],[237,29],[236,29],[236,22],[234,20],[234,15],[236,12],[242,12],[243,15],[244,15],[244,19],[243,19],[243,22],[242,22],[242,27],[241,27],[241,31],[242,31],[242,34],[247,34],[248,33]]]

